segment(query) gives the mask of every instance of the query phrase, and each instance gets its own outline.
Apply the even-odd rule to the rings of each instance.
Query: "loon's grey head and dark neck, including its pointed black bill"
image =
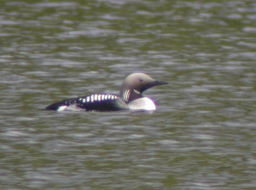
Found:
[[[157,81],[144,73],[133,73],[124,79],[120,89],[120,97],[125,102],[142,98],[142,92],[156,85],[169,84]]]

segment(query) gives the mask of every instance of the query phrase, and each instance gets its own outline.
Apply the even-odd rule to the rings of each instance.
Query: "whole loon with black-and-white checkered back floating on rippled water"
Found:
[[[92,94],[73,99],[65,99],[47,106],[46,110],[55,111],[118,111],[118,110],[155,110],[155,103],[142,96],[142,92],[156,85],[169,84],[157,81],[144,73],[133,73],[124,79],[120,96],[113,94]]]

